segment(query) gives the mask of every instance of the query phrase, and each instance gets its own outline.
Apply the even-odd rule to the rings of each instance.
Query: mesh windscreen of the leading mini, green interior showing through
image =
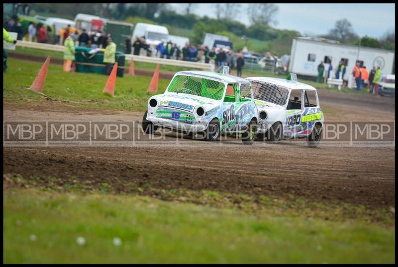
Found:
[[[171,81],[167,91],[221,100],[224,89],[224,83],[219,81],[201,77],[177,75]]]

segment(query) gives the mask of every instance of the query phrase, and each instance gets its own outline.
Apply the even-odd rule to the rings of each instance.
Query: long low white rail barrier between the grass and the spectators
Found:
[[[54,52],[64,52],[64,46],[60,45],[50,45],[50,44],[43,44],[43,43],[34,43],[34,42],[27,42],[27,41],[18,41],[16,43],[18,47],[26,47],[26,48],[34,48],[46,51],[54,51]],[[155,57],[143,57],[143,56],[136,56],[131,54],[125,55],[126,61],[130,61],[134,59],[135,62],[142,62],[142,63],[153,63],[153,64],[160,64],[166,66],[176,66],[176,67],[187,67],[187,68],[198,68],[202,70],[214,71],[214,64],[208,63],[197,63],[197,62],[190,62],[190,61],[182,61],[182,60],[172,60],[172,59],[161,59]]]

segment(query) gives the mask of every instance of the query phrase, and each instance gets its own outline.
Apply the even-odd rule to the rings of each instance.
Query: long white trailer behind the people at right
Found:
[[[392,74],[394,57],[395,52],[391,50],[345,45],[324,38],[296,37],[292,43],[289,72],[316,77],[321,61],[327,71],[330,63],[335,70],[342,60],[347,68],[343,79],[351,84],[351,71],[357,61],[368,71],[380,66],[383,74]]]

